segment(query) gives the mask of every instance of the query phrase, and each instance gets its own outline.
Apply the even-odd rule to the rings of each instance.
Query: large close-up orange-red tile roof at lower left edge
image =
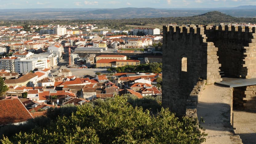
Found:
[[[32,115],[18,98],[0,100],[0,126],[25,122],[30,118]]]

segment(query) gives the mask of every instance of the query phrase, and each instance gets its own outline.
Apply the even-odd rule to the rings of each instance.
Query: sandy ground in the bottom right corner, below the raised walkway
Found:
[[[256,143],[256,114],[233,110],[235,134],[240,135],[244,144]]]

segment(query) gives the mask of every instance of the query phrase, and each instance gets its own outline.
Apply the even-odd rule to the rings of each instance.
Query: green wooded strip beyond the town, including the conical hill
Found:
[[[99,27],[109,27],[111,29],[127,29],[126,25],[145,26],[148,24],[166,25],[176,24],[210,24],[210,23],[255,23],[256,18],[236,18],[223,14],[218,11],[212,11],[201,15],[190,17],[162,17],[162,18],[124,18],[124,19],[103,19],[103,20],[2,20],[0,25],[10,23],[13,25],[81,25],[86,23],[96,24]]]

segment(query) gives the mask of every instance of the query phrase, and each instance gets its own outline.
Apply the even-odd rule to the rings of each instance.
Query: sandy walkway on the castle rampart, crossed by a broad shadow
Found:
[[[206,144],[233,144],[233,129],[230,125],[230,95],[227,87],[207,85],[198,100],[198,120],[203,118],[202,126],[208,136]],[[230,137],[231,136],[231,137]]]

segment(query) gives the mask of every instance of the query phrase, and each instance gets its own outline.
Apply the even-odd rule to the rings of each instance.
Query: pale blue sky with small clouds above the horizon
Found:
[[[256,5],[256,0],[0,0],[0,9],[27,8],[216,8]]]

